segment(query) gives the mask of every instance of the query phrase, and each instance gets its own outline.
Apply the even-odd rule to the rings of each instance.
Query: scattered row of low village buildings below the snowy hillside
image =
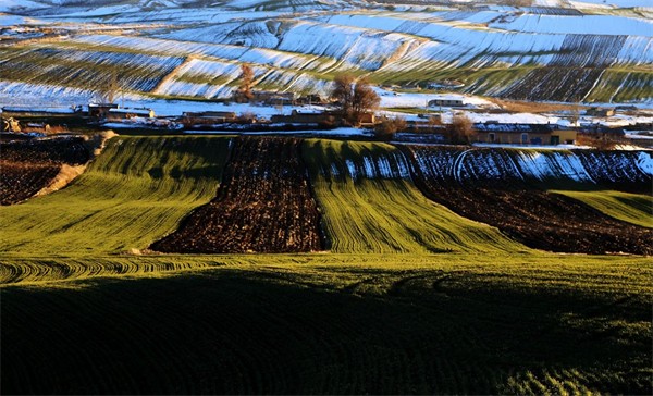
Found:
[[[256,99],[263,103],[274,103],[279,101],[281,104],[297,106],[300,103],[319,103],[322,98],[319,96],[309,96],[295,99],[291,95],[258,91]],[[429,102],[431,107],[460,107],[465,106],[463,100],[455,98],[433,99]],[[586,112],[587,115],[593,116],[612,116],[614,109],[594,108]],[[81,106],[75,106],[66,109],[48,109],[48,108],[28,108],[28,107],[4,107],[2,108],[2,117],[8,128],[17,125],[16,120],[50,120],[64,117],[78,117],[91,122],[123,122],[132,119],[147,119],[150,122],[156,121],[155,111],[147,108],[121,108],[116,103],[90,103],[87,110]],[[436,116],[435,116],[436,117]],[[9,120],[9,121],[8,121]],[[373,128],[383,119],[378,117],[374,113],[369,112],[361,115],[360,127]],[[51,121],[49,121],[51,122]],[[259,120],[254,114],[236,114],[232,111],[202,111],[202,112],[184,112],[181,117],[175,117],[172,122],[177,123],[188,129],[198,128],[214,128],[220,124],[257,124],[257,127],[264,131],[270,128],[288,128],[306,129],[306,128],[332,128],[343,124],[342,116],[333,111],[304,111],[294,109],[289,114],[272,115],[270,120]],[[433,116],[429,120],[411,120],[407,121],[405,129],[406,136],[420,136],[418,140],[423,140],[423,136],[431,136],[432,141],[443,141],[447,135],[449,126],[443,125],[440,122],[433,122]],[[557,124],[515,124],[515,123],[498,123],[489,121],[485,123],[476,123],[472,125],[471,141],[486,144],[509,144],[509,145],[572,145],[577,140],[577,134],[592,134],[597,131],[587,131],[583,128],[562,127]],[[5,128],[7,129],[7,128]],[[602,127],[601,133],[606,134]],[[20,131],[20,129],[19,129]],[[623,131],[608,131],[613,136],[624,135]],[[420,140],[420,141],[421,141]]]

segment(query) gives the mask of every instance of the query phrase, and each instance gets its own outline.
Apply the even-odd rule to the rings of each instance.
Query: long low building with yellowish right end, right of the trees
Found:
[[[473,124],[475,140],[509,145],[572,145],[576,131],[556,124]]]

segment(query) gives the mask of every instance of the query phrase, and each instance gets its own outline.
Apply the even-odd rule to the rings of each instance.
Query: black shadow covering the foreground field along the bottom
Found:
[[[538,393],[556,378],[651,393],[646,332],[624,324],[650,320],[643,298],[439,271],[360,279],[219,270],[5,287],[1,393]]]

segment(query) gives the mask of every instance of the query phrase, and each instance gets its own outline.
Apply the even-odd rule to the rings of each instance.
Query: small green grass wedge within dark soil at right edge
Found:
[[[653,199],[651,196],[614,190],[552,190],[551,193],[578,199],[615,219],[653,228]]]

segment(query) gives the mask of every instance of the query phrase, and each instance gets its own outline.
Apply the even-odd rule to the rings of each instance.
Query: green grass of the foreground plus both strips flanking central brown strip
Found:
[[[530,250],[408,180],[346,176],[397,171],[389,145],[306,141],[334,253],[125,253],[214,196],[227,150],[114,138],[0,208],[0,393],[651,394],[650,258]]]

